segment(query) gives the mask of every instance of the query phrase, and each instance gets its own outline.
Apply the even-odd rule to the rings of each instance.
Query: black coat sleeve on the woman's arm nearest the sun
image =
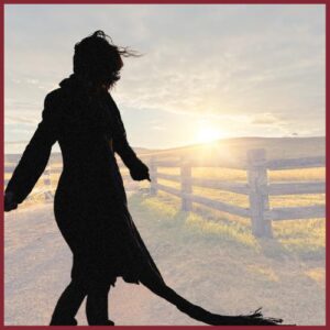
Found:
[[[113,151],[118,153],[130,169],[134,166],[139,166],[141,161],[138,158],[135,152],[130,146],[127,131],[124,129],[120,111],[113,101],[112,97],[109,95],[109,100],[111,103],[111,117],[112,117],[112,138],[113,138]]]

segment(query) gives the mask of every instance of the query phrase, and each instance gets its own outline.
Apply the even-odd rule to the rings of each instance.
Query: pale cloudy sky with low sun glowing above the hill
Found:
[[[323,4],[6,4],[4,152],[24,150],[96,30],[143,54],[110,90],[133,146],[323,136],[324,25]]]

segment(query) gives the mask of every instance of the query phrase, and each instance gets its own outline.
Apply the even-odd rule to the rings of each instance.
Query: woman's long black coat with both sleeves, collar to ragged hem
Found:
[[[91,94],[76,75],[59,86],[46,96],[42,121],[6,190],[22,202],[58,141],[63,173],[54,213],[73,252],[72,277],[85,285],[114,285],[117,276],[139,284],[142,272],[153,272],[163,280],[128,210],[114,152],[130,170],[141,161],[128,143],[112,97],[106,90]]]

